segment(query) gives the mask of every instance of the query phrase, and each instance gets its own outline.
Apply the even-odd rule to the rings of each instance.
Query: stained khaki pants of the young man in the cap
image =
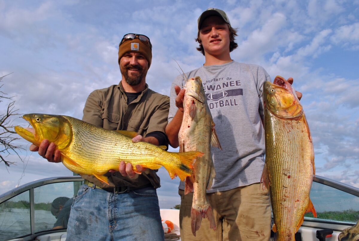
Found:
[[[208,219],[202,219],[196,237],[191,231],[193,193],[181,196],[181,240],[269,240],[271,209],[268,190],[262,191],[259,183],[232,190],[208,193],[216,222],[216,230],[209,228]]]

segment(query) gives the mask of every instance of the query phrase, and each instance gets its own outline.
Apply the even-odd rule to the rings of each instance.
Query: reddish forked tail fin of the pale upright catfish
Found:
[[[213,210],[211,205],[208,203],[208,207],[193,207],[191,209],[191,229],[194,236],[196,231],[200,229],[202,218],[208,218],[209,227],[216,230],[216,222],[214,220]]]

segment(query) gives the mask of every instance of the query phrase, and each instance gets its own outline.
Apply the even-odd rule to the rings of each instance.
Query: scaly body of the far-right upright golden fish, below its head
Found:
[[[313,180],[311,137],[304,114],[300,119],[282,119],[267,109],[265,112],[266,165],[274,223],[279,241],[294,240],[296,227],[308,208]]]

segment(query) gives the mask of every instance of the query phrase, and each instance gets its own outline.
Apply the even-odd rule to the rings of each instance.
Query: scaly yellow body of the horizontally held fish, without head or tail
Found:
[[[72,125],[73,140],[67,150],[62,151],[89,174],[117,170],[121,161],[151,169],[160,166],[174,168],[181,163],[172,153],[150,143],[134,143],[116,131],[99,129],[75,118],[65,118]]]

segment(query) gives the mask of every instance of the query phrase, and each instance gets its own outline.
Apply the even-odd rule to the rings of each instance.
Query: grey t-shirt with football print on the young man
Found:
[[[222,151],[212,147],[216,170],[208,193],[259,183],[264,166],[262,85],[271,81],[258,65],[232,61],[224,65],[202,66],[186,73],[200,76]],[[174,86],[185,85],[177,76],[171,86],[168,122],[176,114]],[[181,182],[180,189],[184,189]]]

